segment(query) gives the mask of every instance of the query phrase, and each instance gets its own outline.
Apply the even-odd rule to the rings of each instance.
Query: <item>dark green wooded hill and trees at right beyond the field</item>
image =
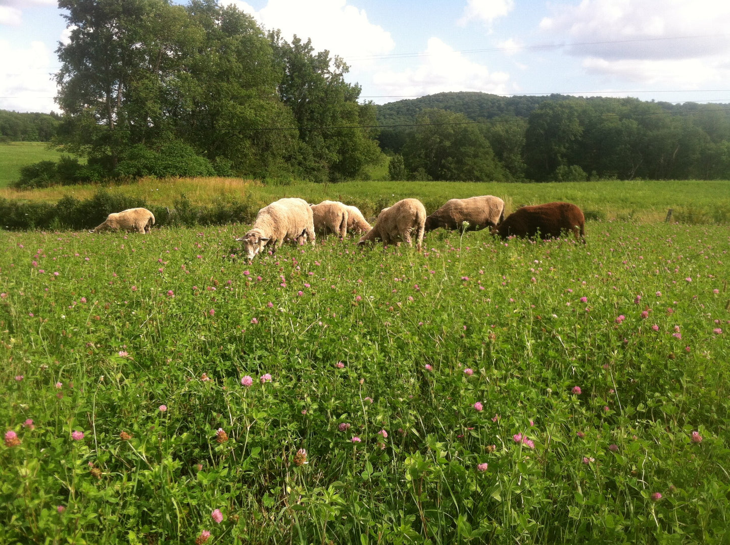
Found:
[[[392,179],[730,178],[730,104],[440,93],[377,117]]]

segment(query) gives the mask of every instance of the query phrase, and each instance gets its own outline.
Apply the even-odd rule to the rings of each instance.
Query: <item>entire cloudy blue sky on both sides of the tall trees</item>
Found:
[[[730,103],[728,0],[219,3],[342,57],[376,104],[445,91]],[[0,109],[58,112],[62,15],[55,0],[0,0]]]

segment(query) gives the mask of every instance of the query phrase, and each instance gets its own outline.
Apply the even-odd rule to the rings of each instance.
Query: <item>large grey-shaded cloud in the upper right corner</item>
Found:
[[[678,89],[730,77],[730,2],[583,0],[552,9],[540,29],[583,58],[588,74]]]

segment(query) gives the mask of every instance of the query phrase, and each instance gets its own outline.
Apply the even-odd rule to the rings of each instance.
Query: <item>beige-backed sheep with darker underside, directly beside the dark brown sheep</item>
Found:
[[[495,227],[504,220],[504,201],[499,197],[485,195],[469,198],[452,198],[436,212],[426,217],[426,232],[439,227],[459,231],[478,231]],[[464,222],[469,225],[464,228]]]

